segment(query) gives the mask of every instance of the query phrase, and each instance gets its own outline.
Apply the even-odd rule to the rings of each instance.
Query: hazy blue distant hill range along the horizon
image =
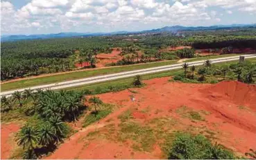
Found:
[[[232,28],[256,28],[255,24],[233,24],[233,25],[219,25],[219,26],[198,26],[198,27],[186,27],[186,26],[166,26],[163,28],[157,28],[153,30],[143,30],[137,32],[119,31],[119,32],[95,32],[95,33],[79,33],[79,32],[60,32],[57,34],[31,34],[31,35],[1,35],[1,41],[17,41],[24,39],[52,39],[52,38],[63,38],[63,37],[88,37],[88,36],[101,36],[101,35],[112,35],[112,34],[139,34],[139,33],[151,33],[151,32],[178,32],[185,30],[221,30],[221,29],[232,29]]]

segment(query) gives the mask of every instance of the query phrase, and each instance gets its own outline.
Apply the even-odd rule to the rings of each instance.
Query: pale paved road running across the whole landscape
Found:
[[[256,58],[256,54],[247,54],[247,55],[244,55],[244,57],[246,57],[246,59]],[[212,61],[212,63],[220,63],[220,62],[225,62],[225,61],[234,61],[234,60],[238,60],[238,59],[239,59],[239,56],[234,56],[234,57],[212,59],[211,61]],[[192,65],[200,66],[200,65],[203,65],[204,62],[205,61],[189,62],[189,66],[192,66]],[[155,73],[155,72],[162,72],[162,71],[166,71],[166,70],[175,70],[175,69],[178,69],[178,68],[182,68],[182,63],[173,64],[173,65],[169,65],[169,66],[160,66],[160,67],[155,67],[155,68],[147,68],[147,69],[142,69],[142,70],[133,70],[133,71],[128,71],[128,72],[120,72],[120,73],[90,77],[90,78],[85,78],[85,79],[77,79],[77,80],[73,80],[73,81],[52,83],[52,84],[48,84],[48,85],[31,87],[30,89],[31,90],[35,90],[35,89],[58,90],[58,89],[62,89],[62,88],[82,86],[82,85],[90,84],[90,83],[98,83],[98,82],[103,82],[103,81],[111,81],[111,80],[114,80],[114,79],[135,77],[135,75],[143,75],[143,74],[149,74],[149,73]],[[28,89],[28,88],[22,88],[22,89],[18,89],[18,90],[10,90],[10,91],[6,91],[6,92],[1,92],[1,97],[2,96],[9,97],[15,91],[22,92],[26,89]]]

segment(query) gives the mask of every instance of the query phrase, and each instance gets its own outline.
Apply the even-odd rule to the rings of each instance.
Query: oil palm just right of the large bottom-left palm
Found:
[[[49,146],[57,140],[56,135],[54,135],[53,132],[53,127],[51,127],[50,123],[44,123],[40,126],[38,135],[40,137],[40,145]]]

